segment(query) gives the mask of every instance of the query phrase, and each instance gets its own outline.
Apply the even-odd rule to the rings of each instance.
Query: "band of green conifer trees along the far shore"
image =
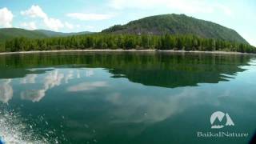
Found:
[[[14,38],[0,43],[1,52],[76,49],[156,49],[256,53],[254,46],[194,35],[84,34],[58,38]]]

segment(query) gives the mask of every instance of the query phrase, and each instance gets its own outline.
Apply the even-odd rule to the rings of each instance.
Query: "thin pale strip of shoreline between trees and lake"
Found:
[[[167,52],[167,53],[202,53],[202,54],[250,54],[250,53],[241,53],[234,51],[199,51],[199,50],[154,50],[154,49],[145,49],[145,50],[123,50],[123,49],[94,49],[94,50],[32,50],[32,51],[17,51],[17,52],[0,52],[0,55],[4,54],[37,54],[37,53],[61,53],[61,52]],[[254,54],[250,54],[254,55]]]

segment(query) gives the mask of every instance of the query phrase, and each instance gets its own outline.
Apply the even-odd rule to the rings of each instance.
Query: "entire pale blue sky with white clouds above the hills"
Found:
[[[0,0],[0,27],[101,31],[114,24],[173,13],[217,22],[256,46],[255,0]]]

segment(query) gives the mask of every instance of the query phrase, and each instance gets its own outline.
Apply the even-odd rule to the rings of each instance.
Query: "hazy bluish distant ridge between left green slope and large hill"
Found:
[[[46,34],[48,37],[66,37],[70,35],[81,35],[81,34],[92,34],[90,31],[82,31],[78,33],[62,33],[62,32],[55,32],[51,30],[34,30],[36,32],[40,32],[42,34]]]

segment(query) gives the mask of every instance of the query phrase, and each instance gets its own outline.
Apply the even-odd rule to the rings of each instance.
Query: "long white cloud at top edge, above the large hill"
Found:
[[[227,6],[202,0],[110,0],[109,6],[114,9],[122,10],[126,8],[134,9],[154,9],[155,7],[178,10],[181,13],[213,13],[222,11],[230,15],[231,10]]]

